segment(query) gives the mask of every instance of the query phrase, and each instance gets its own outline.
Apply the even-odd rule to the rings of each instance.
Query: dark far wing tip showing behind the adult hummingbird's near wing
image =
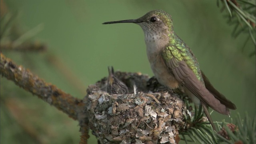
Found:
[[[231,110],[236,110],[236,105],[233,104],[230,100],[228,100],[227,98],[225,98],[225,96],[223,94],[221,94],[220,92],[218,92],[218,90],[216,90],[212,84],[210,83],[210,81],[208,80],[208,78],[204,75],[204,72],[201,70],[202,73],[202,77],[204,79],[204,85],[207,88],[207,90],[209,90],[209,92],[211,92],[215,98],[217,98],[221,104],[224,104],[227,108],[231,109]]]

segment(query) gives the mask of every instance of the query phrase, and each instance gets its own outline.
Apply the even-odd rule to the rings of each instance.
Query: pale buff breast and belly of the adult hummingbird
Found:
[[[178,88],[179,83],[170,73],[166,64],[164,63],[161,56],[161,51],[163,49],[160,48],[157,40],[151,42],[146,41],[146,46],[150,67],[158,82],[170,89]]]

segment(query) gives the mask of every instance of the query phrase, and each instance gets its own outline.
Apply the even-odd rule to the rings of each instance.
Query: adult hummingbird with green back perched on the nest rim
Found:
[[[229,109],[236,109],[200,70],[192,50],[174,32],[172,17],[167,12],[153,10],[138,19],[103,24],[115,23],[134,23],[142,28],[150,67],[158,82],[170,89],[180,87],[197,108],[202,105],[214,129],[208,106],[225,115],[230,114]]]

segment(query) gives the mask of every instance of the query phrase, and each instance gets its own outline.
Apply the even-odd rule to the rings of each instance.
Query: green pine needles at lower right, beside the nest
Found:
[[[186,144],[196,142],[200,144],[256,144],[256,116],[251,120],[246,113],[244,120],[240,114],[236,116],[236,123],[214,122],[217,131],[203,116],[202,106],[194,112],[194,116],[188,112],[184,114],[186,126],[180,130],[181,140]],[[232,120],[232,119],[231,119]]]

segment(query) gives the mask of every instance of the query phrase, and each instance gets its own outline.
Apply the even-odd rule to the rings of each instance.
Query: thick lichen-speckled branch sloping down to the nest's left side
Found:
[[[0,74],[2,76],[12,80],[16,85],[68,114],[70,118],[78,120],[78,115],[84,109],[82,100],[66,94],[50,83],[44,82],[44,80],[32,74],[28,69],[17,66],[2,53],[0,59]]]

